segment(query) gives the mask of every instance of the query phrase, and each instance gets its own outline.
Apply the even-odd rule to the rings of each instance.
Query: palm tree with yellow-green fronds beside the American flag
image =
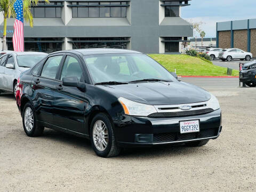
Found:
[[[46,3],[49,3],[49,0],[44,0]],[[0,12],[4,15],[4,31],[3,31],[3,50],[6,50],[6,26],[7,18],[16,17],[13,4],[15,0],[0,0]],[[38,0],[23,0],[23,17],[24,20],[29,22],[30,27],[33,27],[33,15],[30,12],[31,4],[37,5]]]

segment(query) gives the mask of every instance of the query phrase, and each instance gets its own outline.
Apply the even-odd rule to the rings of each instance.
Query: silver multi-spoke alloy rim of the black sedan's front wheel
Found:
[[[93,142],[99,151],[106,149],[108,145],[108,129],[106,124],[99,120],[93,125]]]

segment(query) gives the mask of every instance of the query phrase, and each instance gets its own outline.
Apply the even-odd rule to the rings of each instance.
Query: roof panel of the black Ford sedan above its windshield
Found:
[[[111,54],[111,53],[140,53],[138,51],[125,50],[125,49],[110,49],[110,48],[93,48],[93,49],[75,49],[69,51],[58,51],[59,52],[73,52],[80,53],[82,55],[94,55],[94,54]],[[140,53],[141,54],[141,53]]]

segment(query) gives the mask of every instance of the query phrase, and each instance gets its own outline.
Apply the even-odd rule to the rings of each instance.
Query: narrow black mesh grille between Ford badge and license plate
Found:
[[[188,110],[188,111],[177,111],[177,112],[163,112],[163,113],[153,113],[148,115],[151,118],[159,118],[159,117],[185,117],[185,116],[193,116],[193,115],[203,115],[207,113],[211,113],[213,109],[199,109],[199,110]]]

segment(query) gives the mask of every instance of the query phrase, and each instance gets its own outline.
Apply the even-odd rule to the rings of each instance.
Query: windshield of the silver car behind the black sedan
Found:
[[[17,63],[19,67],[33,67],[38,61],[42,60],[45,57],[43,54],[34,55],[17,55]]]

